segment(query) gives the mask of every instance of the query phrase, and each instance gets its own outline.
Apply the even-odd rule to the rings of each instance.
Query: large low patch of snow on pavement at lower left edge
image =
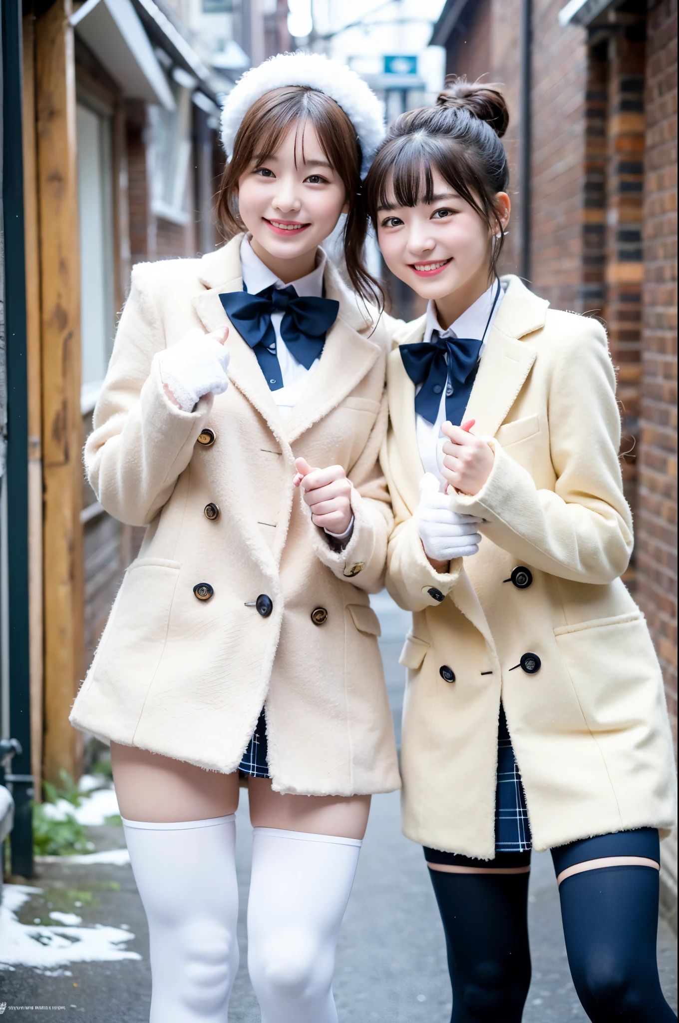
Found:
[[[102,924],[95,927],[52,927],[19,923],[17,910],[32,896],[41,893],[41,888],[30,885],[3,887],[0,906],[0,969],[12,970],[12,964],[49,969],[66,963],[141,959],[138,952],[123,947],[125,942],[134,938],[134,934],[118,927]]]

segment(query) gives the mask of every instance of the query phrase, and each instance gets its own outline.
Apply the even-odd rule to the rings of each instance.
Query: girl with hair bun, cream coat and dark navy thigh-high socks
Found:
[[[551,850],[574,983],[595,1023],[676,1020],[655,960],[676,820],[663,680],[621,580],[632,550],[605,331],[496,264],[508,115],[453,81],[402,115],[366,201],[428,300],[388,359],[387,586],[413,613],[402,779],[446,932],[453,1023],[518,1023],[531,849]]]

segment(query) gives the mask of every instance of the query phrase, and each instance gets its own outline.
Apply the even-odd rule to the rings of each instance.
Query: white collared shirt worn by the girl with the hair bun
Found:
[[[447,330],[441,329],[441,324],[437,317],[437,308],[434,301],[431,301],[426,306],[426,322],[424,323],[424,337],[422,341],[425,344],[432,342],[432,333],[437,330],[440,338],[481,338],[483,339],[483,344],[479,351],[479,360],[486,350],[486,344],[488,335],[493,325],[493,320],[497,315],[497,311],[500,308],[500,303],[504,298],[504,292],[500,288],[500,293],[497,297],[497,302],[495,303],[495,308],[493,309],[493,300],[495,299],[495,292],[497,288],[497,282],[494,280],[487,292],[477,299],[477,301],[465,309],[461,316],[455,320],[454,323],[448,327]],[[491,309],[493,313],[491,315]],[[489,320],[490,316],[490,320]],[[488,324],[488,326],[487,326]],[[486,331],[484,333],[484,330]],[[418,386],[417,392],[419,392]],[[443,468],[443,446],[448,440],[445,434],[441,432],[441,427],[446,421],[446,393],[441,395],[441,404],[439,406],[439,414],[437,420],[434,425],[428,422],[424,416],[416,414],[415,415],[415,431],[417,434],[417,449],[419,451],[419,457],[421,458],[422,465],[425,473],[433,473],[438,479],[444,483],[444,477],[441,473]]]

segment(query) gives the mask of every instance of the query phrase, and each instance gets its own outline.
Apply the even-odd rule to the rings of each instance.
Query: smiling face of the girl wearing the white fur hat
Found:
[[[316,250],[346,212],[344,181],[309,121],[276,150],[256,153],[238,178],[238,212],[256,255],[281,280],[311,273]]]

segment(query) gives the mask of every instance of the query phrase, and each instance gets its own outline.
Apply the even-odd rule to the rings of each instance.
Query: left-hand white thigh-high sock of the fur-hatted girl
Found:
[[[123,825],[148,920],[150,1023],[226,1023],[238,969],[235,815]]]

